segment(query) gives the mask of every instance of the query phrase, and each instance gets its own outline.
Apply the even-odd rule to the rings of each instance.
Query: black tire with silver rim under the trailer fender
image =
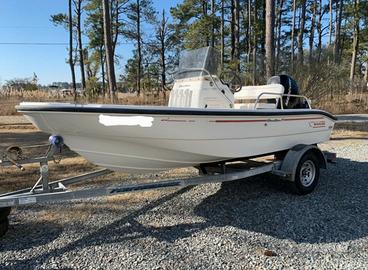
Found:
[[[294,187],[300,195],[311,193],[319,180],[320,163],[312,151],[308,151],[299,160],[295,171]]]

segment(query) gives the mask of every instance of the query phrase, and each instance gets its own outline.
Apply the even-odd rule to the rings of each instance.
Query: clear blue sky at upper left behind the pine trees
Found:
[[[156,10],[169,10],[179,0],[153,0]],[[14,78],[32,78],[39,83],[70,81],[66,63],[68,32],[50,22],[50,16],[67,13],[67,0],[1,0],[0,3],[0,85]],[[123,42],[123,40],[121,40]],[[61,43],[61,45],[15,45],[9,43]],[[121,44],[117,54],[120,68],[129,59],[132,44]],[[77,79],[79,79],[78,70]]]

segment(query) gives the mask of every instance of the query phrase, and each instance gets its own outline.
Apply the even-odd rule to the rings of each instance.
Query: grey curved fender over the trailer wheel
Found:
[[[300,159],[307,153],[312,152],[319,161],[319,167],[326,169],[327,161],[322,151],[315,145],[298,144],[291,148],[285,155],[281,163],[280,170],[284,173],[284,178],[291,182],[295,180],[295,172]]]

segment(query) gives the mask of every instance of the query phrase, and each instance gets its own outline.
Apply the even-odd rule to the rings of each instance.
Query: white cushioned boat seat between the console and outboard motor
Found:
[[[274,93],[264,94],[259,98],[257,108],[255,108],[256,100],[262,93]],[[267,84],[267,85],[251,85],[243,86],[242,89],[234,94],[235,109],[276,109],[278,98],[280,94],[284,93],[284,87],[281,84]]]

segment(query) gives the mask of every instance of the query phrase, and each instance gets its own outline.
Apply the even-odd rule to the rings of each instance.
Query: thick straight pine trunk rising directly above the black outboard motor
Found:
[[[266,76],[274,75],[275,2],[266,0]]]

